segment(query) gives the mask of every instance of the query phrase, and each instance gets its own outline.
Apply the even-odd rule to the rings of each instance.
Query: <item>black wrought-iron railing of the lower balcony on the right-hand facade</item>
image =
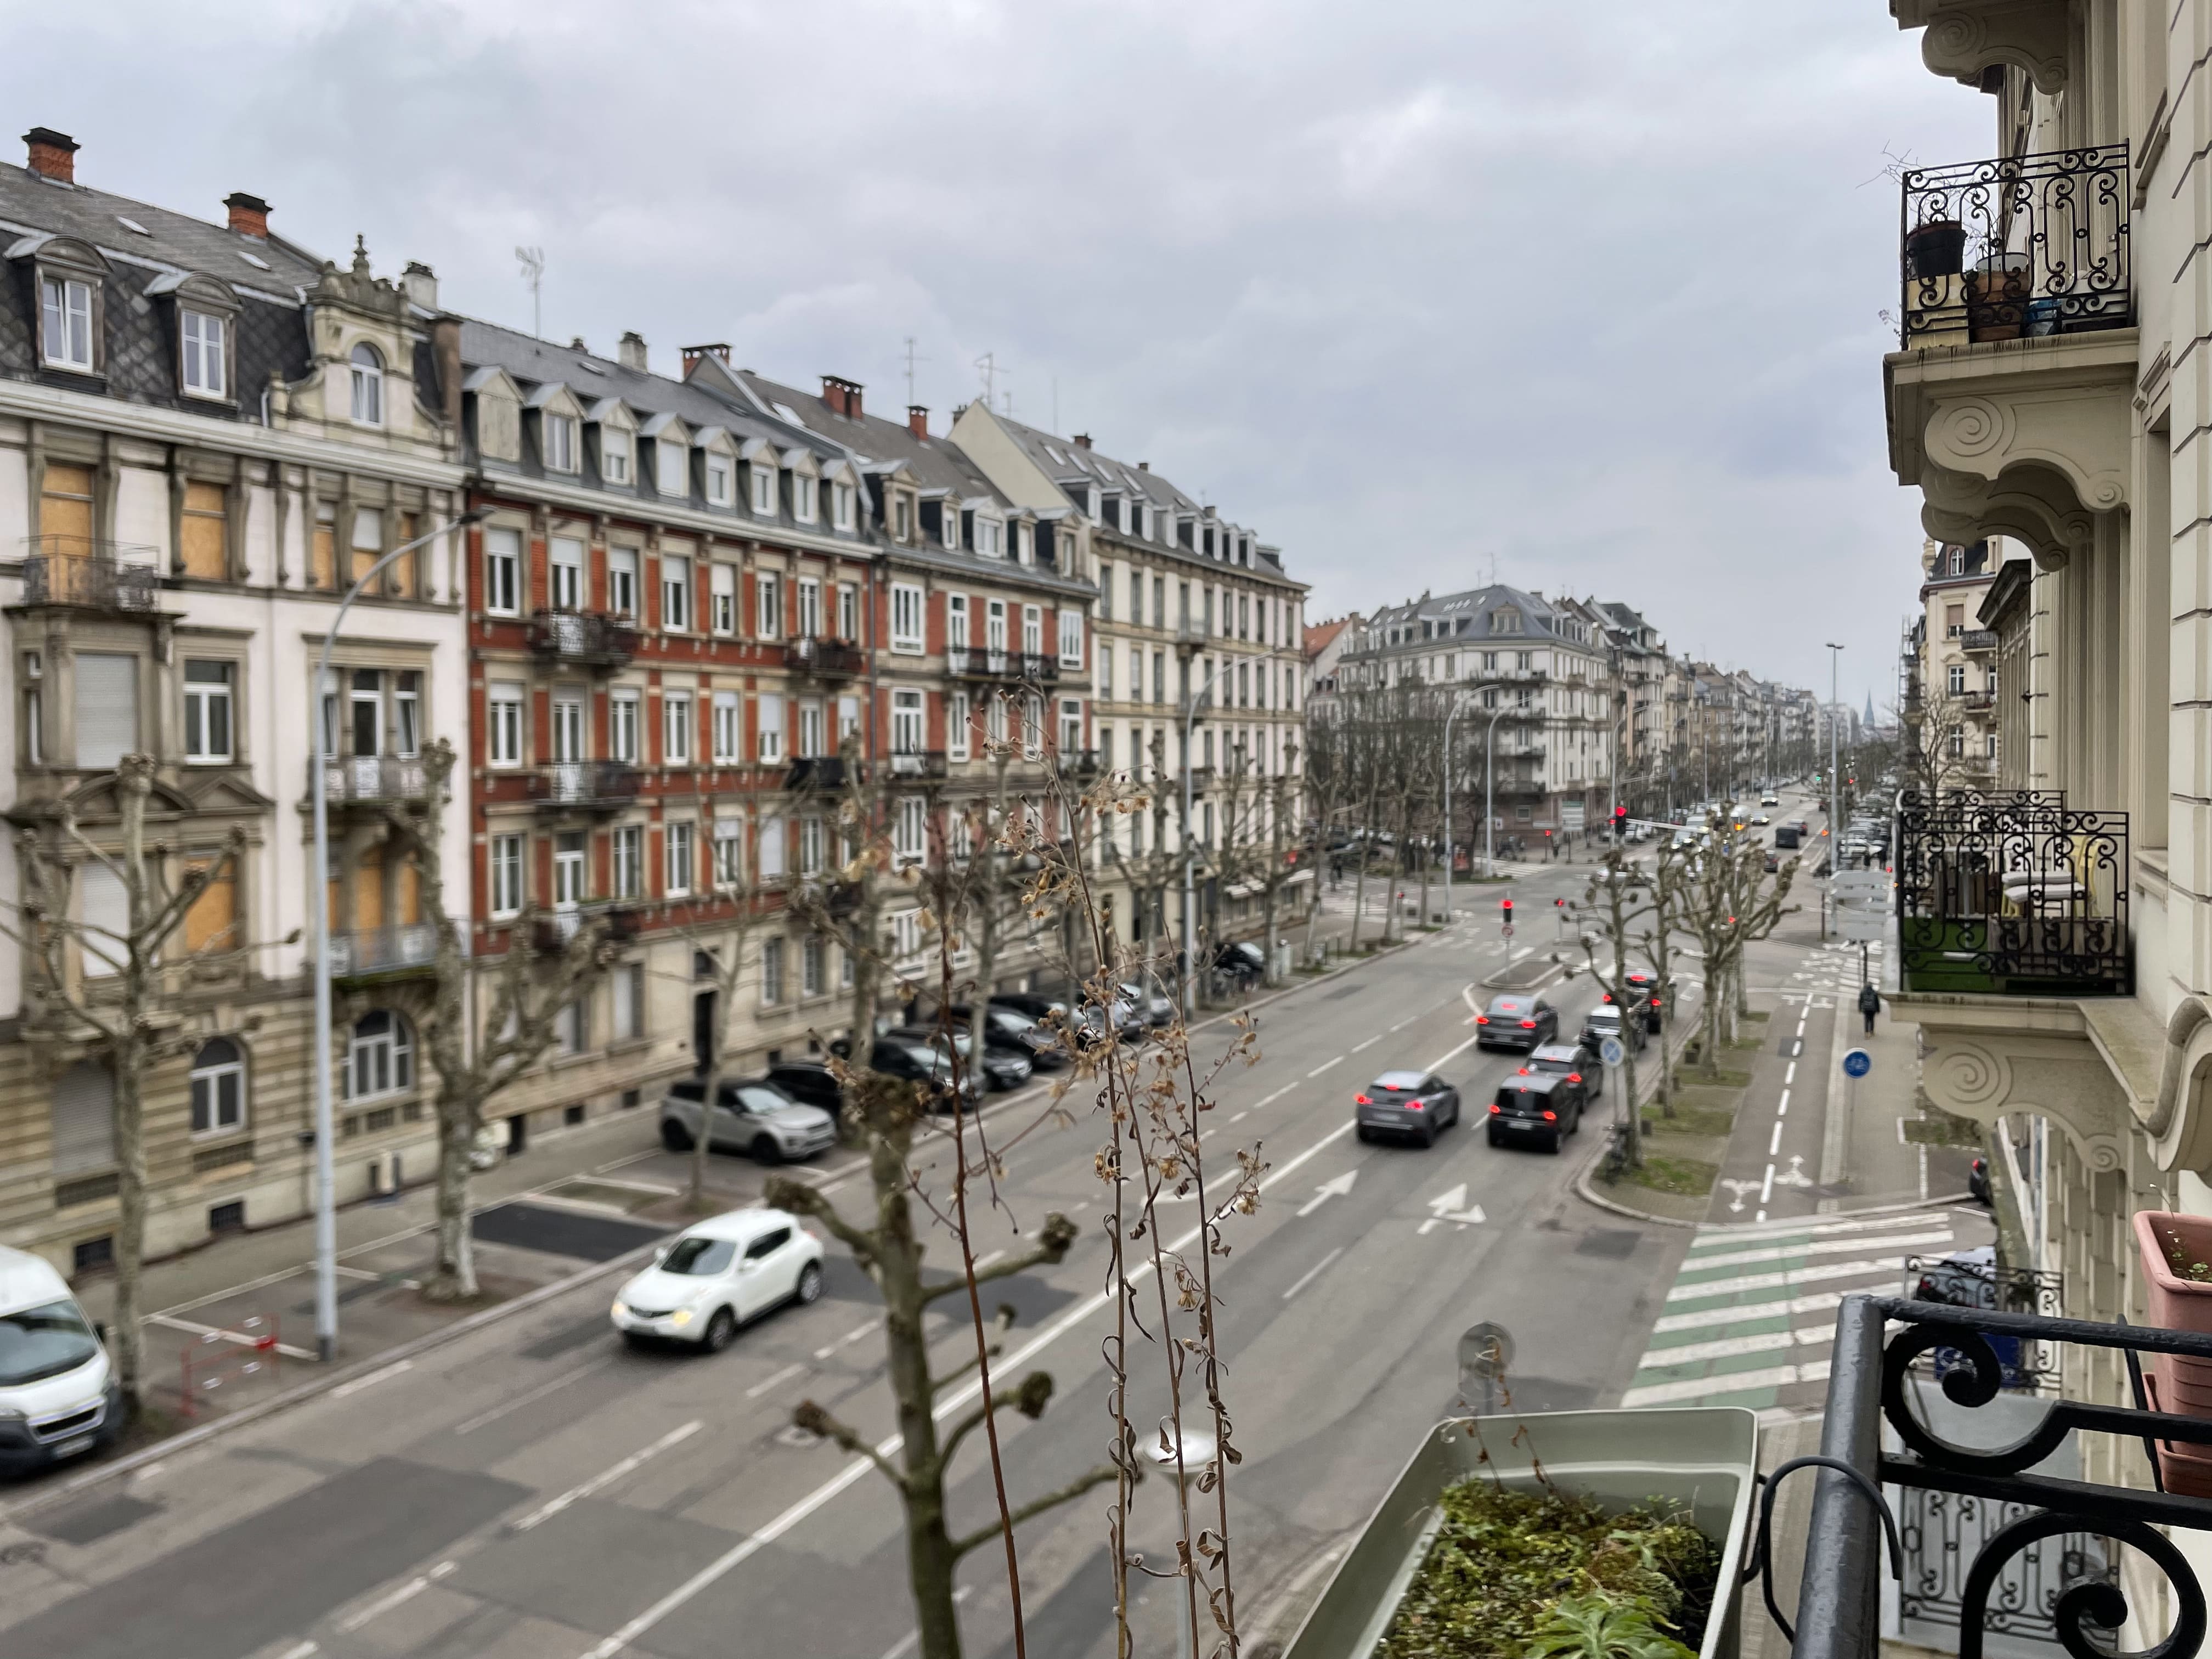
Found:
[[[1902,790],[1896,874],[1907,991],[2135,995],[2126,812]]]

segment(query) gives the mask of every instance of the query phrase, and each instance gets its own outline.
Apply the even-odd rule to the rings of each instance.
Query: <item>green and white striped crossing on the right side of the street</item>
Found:
[[[1816,1407],[1843,1298],[1896,1294],[1907,1256],[1986,1234],[1962,1210],[1699,1228],[1621,1405]]]

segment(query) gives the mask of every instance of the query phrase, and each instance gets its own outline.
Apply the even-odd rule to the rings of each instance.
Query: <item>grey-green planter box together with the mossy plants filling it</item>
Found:
[[[1422,1440],[1283,1659],[1736,1644],[1759,1418],[1453,1418]],[[1526,1582],[1524,1582],[1526,1579]]]

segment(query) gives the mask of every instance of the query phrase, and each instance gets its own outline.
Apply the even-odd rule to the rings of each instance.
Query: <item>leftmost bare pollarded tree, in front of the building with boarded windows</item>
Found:
[[[0,922],[0,933],[24,949],[31,1000],[27,1009],[40,1037],[62,1053],[97,1055],[113,1077],[115,1135],[115,1380],[124,1409],[137,1411],[144,1378],[139,1332],[139,1276],[146,1261],[146,1075],[164,1060],[188,1053],[188,1037],[164,1018],[173,995],[164,951],[186,914],[221,880],[234,880],[246,832],[232,830],[221,852],[181,880],[168,865],[181,852],[148,843],[146,805],[155,763],[126,754],[115,772],[115,834],[102,845],[77,825],[66,801],[58,812],[58,845],[35,830],[15,836],[22,902]],[[124,927],[88,920],[80,902],[71,916],[77,872],[104,869],[124,891]],[[82,900],[82,885],[77,885]],[[97,967],[95,967],[97,962]]]

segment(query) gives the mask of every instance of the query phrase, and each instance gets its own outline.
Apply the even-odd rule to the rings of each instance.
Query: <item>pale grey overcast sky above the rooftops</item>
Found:
[[[1880,0],[11,4],[86,184],[274,228],[653,363],[730,341],[942,429],[993,354],[1276,542],[1310,615],[1489,577],[1893,697],[1885,155],[1989,100]],[[91,35],[104,35],[93,40]]]

